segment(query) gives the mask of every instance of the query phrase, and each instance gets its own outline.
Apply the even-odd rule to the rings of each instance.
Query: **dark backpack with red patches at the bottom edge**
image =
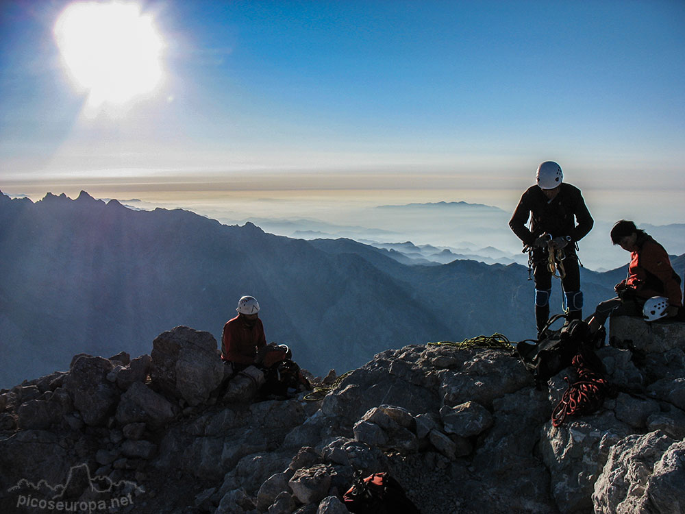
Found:
[[[399,482],[386,472],[374,473],[356,482],[343,495],[347,510],[354,514],[421,514]]]

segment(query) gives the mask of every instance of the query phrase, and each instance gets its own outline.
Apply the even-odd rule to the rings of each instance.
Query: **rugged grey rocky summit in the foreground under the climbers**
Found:
[[[0,511],[339,514],[386,471],[424,514],[683,512],[685,323],[614,318],[609,342],[610,395],[558,426],[574,369],[536,389],[506,349],[387,350],[286,400],[188,327],[79,354],[0,394]]]

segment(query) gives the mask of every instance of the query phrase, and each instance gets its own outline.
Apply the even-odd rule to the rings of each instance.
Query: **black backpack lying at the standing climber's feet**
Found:
[[[558,330],[550,326],[558,319],[566,318],[563,314],[553,316],[543,329],[543,339],[527,339],[516,344],[516,352],[521,362],[535,379],[535,387],[543,388],[551,377],[571,365],[573,357],[584,354],[593,368],[601,368],[593,347],[604,340],[603,328],[597,334],[590,334],[588,323],[581,319],[566,320]]]

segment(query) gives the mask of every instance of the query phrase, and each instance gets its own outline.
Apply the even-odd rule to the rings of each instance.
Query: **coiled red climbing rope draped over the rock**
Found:
[[[578,380],[571,384],[569,377],[564,377],[569,387],[552,411],[552,425],[555,427],[560,426],[566,416],[594,413],[601,407],[609,391],[608,382],[601,374],[587,367],[582,353],[573,357],[571,362],[577,371]]]

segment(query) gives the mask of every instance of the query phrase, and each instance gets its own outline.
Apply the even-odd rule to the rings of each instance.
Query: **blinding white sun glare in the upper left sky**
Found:
[[[125,103],[162,79],[164,42],[151,16],[134,3],[72,3],[60,14],[55,40],[91,106]]]

